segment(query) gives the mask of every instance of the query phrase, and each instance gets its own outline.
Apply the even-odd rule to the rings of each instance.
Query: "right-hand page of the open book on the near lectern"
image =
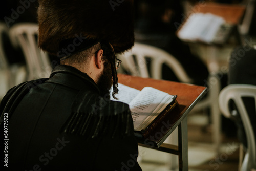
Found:
[[[151,87],[145,87],[141,90],[139,95],[129,103],[134,121],[134,130],[140,131],[138,130],[140,125],[154,110],[157,110],[158,106],[159,108],[162,107],[163,103],[166,102],[162,99],[166,96],[171,95]]]

